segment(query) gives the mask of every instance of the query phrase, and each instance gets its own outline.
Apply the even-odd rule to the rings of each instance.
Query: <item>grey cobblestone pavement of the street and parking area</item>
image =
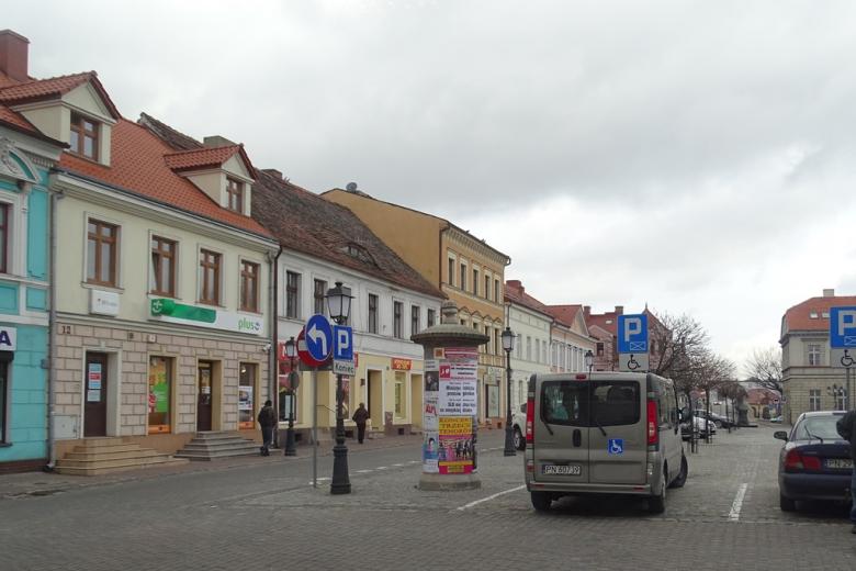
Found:
[[[744,428],[700,445],[687,485],[669,490],[662,516],[643,501],[612,499],[566,499],[534,513],[521,488],[522,456],[502,455],[499,430],[482,438],[483,488],[466,492],[418,491],[412,443],[352,447],[353,492],[343,496],[331,496],[328,481],[308,485],[305,458],[7,496],[0,568],[856,568],[845,508],[779,511],[781,443],[773,430]]]

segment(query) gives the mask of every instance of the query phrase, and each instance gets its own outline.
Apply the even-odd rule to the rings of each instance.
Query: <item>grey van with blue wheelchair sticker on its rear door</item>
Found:
[[[651,373],[533,374],[526,488],[538,511],[563,495],[631,494],[663,513],[687,479],[674,383]]]

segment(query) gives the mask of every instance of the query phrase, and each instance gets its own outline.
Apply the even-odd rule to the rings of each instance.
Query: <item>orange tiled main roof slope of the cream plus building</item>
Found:
[[[67,170],[142,197],[266,237],[258,222],[219,206],[192,182],[173,172],[164,160],[172,150],[145,127],[121,119],[113,127],[110,167],[65,153]]]

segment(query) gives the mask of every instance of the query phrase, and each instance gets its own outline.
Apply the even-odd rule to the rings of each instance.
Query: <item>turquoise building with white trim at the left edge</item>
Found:
[[[26,45],[0,32],[0,101],[5,87],[29,80]],[[0,472],[48,456],[48,172],[63,147],[0,104]]]

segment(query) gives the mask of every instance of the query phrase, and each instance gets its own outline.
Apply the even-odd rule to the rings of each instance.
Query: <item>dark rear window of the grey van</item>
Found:
[[[541,419],[568,426],[637,424],[640,416],[635,381],[544,381]]]

